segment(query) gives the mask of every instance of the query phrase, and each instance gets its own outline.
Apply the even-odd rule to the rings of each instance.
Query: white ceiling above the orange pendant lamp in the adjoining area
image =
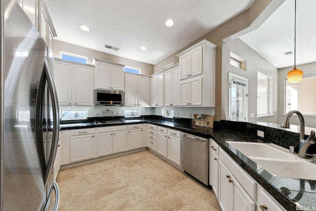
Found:
[[[294,55],[294,0],[285,0],[255,31],[240,39],[277,68],[292,67]],[[296,65],[316,62],[316,0],[296,2]],[[299,67],[298,67],[299,68]]]

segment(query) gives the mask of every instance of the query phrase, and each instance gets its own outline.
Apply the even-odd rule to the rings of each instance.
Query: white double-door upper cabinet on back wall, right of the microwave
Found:
[[[125,106],[149,107],[149,78],[125,73]]]

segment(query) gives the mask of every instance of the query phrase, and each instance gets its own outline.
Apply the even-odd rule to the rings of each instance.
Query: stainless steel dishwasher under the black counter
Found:
[[[209,140],[182,133],[182,169],[208,185]]]

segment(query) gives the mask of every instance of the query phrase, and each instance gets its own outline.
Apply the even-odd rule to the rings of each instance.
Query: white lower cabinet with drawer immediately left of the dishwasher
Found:
[[[181,132],[174,129],[168,129],[168,156],[167,158],[179,166],[181,166],[180,143],[181,143]]]

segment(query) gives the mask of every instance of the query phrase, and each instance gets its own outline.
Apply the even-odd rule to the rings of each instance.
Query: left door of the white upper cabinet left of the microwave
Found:
[[[54,80],[59,105],[71,105],[72,64],[55,61]]]

